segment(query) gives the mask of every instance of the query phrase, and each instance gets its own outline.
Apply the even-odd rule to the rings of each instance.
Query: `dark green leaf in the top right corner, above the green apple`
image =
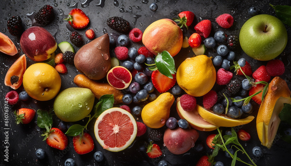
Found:
[[[272,6],[272,8],[275,9],[275,12],[276,12],[278,19],[280,19],[284,24],[291,26],[291,7],[287,6],[287,5],[286,6],[282,6],[282,5],[273,6],[273,5],[271,5],[271,6]]]

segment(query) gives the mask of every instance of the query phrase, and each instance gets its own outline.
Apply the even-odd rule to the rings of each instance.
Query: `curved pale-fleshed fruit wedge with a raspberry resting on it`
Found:
[[[204,120],[197,112],[196,107],[193,111],[185,111],[181,107],[180,97],[177,98],[176,109],[181,119],[186,119],[189,125],[200,131],[213,131],[219,126],[211,124]]]

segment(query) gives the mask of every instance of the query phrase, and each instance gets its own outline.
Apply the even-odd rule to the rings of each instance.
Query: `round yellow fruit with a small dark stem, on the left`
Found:
[[[61,77],[51,65],[35,63],[24,72],[23,87],[33,99],[47,101],[58,94]]]

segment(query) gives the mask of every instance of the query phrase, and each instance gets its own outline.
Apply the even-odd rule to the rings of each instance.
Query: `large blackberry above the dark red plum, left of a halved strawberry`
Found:
[[[36,23],[46,26],[54,20],[54,10],[52,6],[45,5],[43,6],[36,15],[34,15]]]

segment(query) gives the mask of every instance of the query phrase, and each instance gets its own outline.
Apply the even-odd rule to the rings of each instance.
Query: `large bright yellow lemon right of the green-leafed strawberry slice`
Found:
[[[191,96],[203,96],[211,90],[216,81],[212,60],[206,55],[186,58],[178,67],[178,85]]]

